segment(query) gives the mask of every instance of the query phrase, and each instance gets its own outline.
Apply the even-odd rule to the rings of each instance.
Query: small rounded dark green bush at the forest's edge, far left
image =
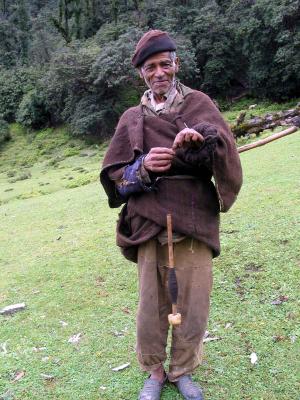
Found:
[[[17,112],[17,122],[27,128],[42,128],[50,120],[50,114],[41,92],[33,89],[23,96]]]

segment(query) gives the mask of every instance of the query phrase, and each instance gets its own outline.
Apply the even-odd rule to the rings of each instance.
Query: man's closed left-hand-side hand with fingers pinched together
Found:
[[[170,169],[174,155],[167,147],[152,147],[144,158],[144,167],[152,172],[165,172]]]

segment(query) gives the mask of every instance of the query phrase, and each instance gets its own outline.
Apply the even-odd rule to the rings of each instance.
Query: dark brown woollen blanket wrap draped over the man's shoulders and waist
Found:
[[[187,94],[178,113],[143,115],[141,106],[127,110],[104,158],[100,180],[110,207],[119,207],[124,200],[109,179],[109,169],[131,163],[152,147],[172,147],[185,124],[192,128],[203,122],[218,130],[212,171],[199,167],[193,171],[196,179],[163,177],[157,182],[156,191],[130,196],[117,225],[117,244],[129,260],[136,262],[138,245],[166,227],[168,213],[173,216],[175,232],[204,242],[214,256],[219,255],[219,211],[226,212],[234,203],[242,184],[242,170],[232,133],[204,93]],[[172,175],[172,170],[168,175]],[[216,186],[211,181],[212,175]]]

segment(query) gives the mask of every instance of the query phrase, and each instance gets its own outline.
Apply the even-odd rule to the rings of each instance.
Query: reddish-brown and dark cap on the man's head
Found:
[[[146,32],[136,45],[132,64],[135,68],[138,68],[153,54],[175,50],[176,44],[167,32],[151,30]]]

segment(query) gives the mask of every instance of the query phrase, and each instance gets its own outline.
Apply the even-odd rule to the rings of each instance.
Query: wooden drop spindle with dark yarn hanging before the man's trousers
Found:
[[[178,284],[174,265],[174,252],[173,252],[173,234],[172,234],[172,216],[167,215],[167,231],[168,231],[168,250],[169,250],[169,276],[168,285],[169,292],[172,300],[172,314],[168,315],[170,325],[181,324],[181,314],[177,312],[177,296]]]

